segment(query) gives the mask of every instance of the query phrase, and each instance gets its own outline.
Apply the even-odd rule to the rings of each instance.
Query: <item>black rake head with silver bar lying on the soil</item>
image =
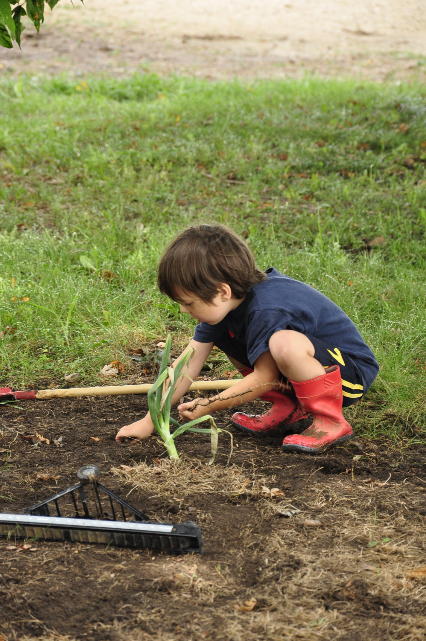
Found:
[[[83,465],[77,472],[80,483],[25,508],[23,515],[0,514],[0,537],[201,552],[200,526],[153,523],[99,483],[100,476],[97,465]]]

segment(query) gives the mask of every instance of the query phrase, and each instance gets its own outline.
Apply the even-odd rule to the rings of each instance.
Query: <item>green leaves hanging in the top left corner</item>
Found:
[[[51,10],[59,0],[46,0]],[[81,0],[83,2],[83,0]],[[0,46],[12,49],[13,40],[21,49],[21,33],[25,27],[21,22],[26,15],[33,22],[37,33],[44,22],[44,0],[0,0]]]

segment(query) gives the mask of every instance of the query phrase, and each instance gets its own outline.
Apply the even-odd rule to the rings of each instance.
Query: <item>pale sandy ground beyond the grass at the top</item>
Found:
[[[425,79],[424,0],[62,0],[0,72]],[[118,7],[118,10],[117,10]],[[28,37],[30,36],[30,38]]]

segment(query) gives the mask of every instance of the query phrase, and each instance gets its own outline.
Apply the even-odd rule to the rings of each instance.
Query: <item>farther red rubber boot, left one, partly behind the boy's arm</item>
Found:
[[[244,377],[253,372],[249,367],[239,371]],[[236,412],[231,419],[236,428],[259,437],[282,437],[285,434],[300,434],[312,422],[291,391],[270,390],[260,398],[273,403],[273,406],[264,414]]]

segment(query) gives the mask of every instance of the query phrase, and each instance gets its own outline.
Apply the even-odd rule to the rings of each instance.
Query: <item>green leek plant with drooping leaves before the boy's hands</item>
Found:
[[[180,359],[175,369],[173,369],[173,367],[168,367],[170,349],[171,335],[169,334],[167,336],[166,346],[164,347],[164,353],[162,356],[160,372],[158,374],[157,381],[155,381],[153,387],[151,387],[148,392],[148,407],[149,413],[151,415],[151,420],[155,426],[155,429],[157,429],[157,432],[160,435],[170,458],[179,458],[179,454],[175,445],[175,438],[180,434],[183,434],[183,432],[188,430],[190,432],[210,434],[212,443],[212,456],[210,458],[209,465],[211,465],[214,462],[214,457],[216,456],[218,434],[219,432],[226,432],[227,430],[218,429],[213,417],[210,416],[210,414],[201,416],[199,419],[190,420],[184,425],[181,425],[177,420],[173,419],[170,416],[171,399],[176,387],[185,377],[188,371],[189,363],[191,362],[192,356],[194,356],[194,349],[189,349],[187,353]],[[205,420],[210,420],[210,429],[194,428],[194,425]],[[176,428],[173,433],[171,433],[170,431],[171,424]],[[228,432],[228,434],[231,437],[232,454],[232,434],[230,432]]]

